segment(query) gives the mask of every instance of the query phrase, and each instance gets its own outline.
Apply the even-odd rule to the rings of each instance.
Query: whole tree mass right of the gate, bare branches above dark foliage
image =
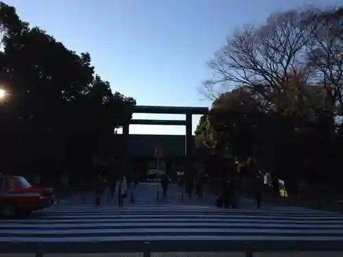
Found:
[[[339,190],[342,32],[342,8],[288,10],[237,29],[209,62],[202,93],[213,105],[196,130],[198,147],[255,158],[294,192],[300,181]]]

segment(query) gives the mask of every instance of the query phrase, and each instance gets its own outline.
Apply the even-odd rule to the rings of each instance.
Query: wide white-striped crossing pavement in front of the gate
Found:
[[[129,241],[196,241],[199,245],[306,241],[343,245],[343,216],[296,207],[224,210],[213,204],[150,203],[123,208],[56,205],[27,219],[0,220],[1,247],[9,242],[120,245]]]

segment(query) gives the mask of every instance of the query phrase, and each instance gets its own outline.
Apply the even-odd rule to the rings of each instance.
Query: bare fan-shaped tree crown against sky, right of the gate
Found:
[[[209,62],[213,79],[204,84],[228,88],[259,86],[282,90],[289,72],[305,69],[304,53],[309,47],[309,32],[303,22],[307,12],[291,10],[272,14],[265,25],[237,29],[233,38]]]

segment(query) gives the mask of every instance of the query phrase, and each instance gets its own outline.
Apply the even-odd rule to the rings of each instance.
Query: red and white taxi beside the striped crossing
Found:
[[[0,216],[29,215],[54,201],[52,188],[38,188],[21,176],[0,174]]]

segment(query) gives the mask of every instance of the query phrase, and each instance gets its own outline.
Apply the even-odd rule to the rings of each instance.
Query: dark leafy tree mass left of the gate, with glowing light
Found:
[[[120,156],[115,129],[136,101],[95,73],[89,53],[67,49],[0,3],[1,164],[11,173],[80,173]]]

